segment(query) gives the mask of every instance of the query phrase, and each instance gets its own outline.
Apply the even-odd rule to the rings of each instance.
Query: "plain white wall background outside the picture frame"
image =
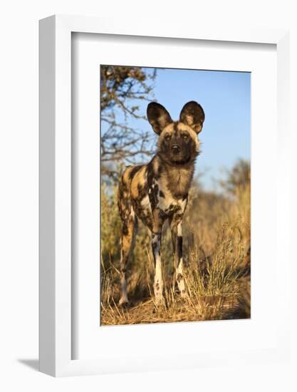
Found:
[[[296,391],[296,363],[261,368],[54,379],[38,373],[38,19],[51,14],[124,17],[164,15],[177,23],[291,28],[291,122],[295,121],[296,1],[6,0],[0,6],[0,389],[2,391]],[[191,21],[187,18],[191,16]],[[295,73],[293,73],[295,71]],[[292,130],[293,130],[292,126]],[[296,130],[296,129],[295,129]],[[296,130],[297,133],[297,130]],[[291,135],[292,169],[296,134]],[[292,171],[292,200],[297,200]],[[295,213],[295,215],[294,215]],[[296,207],[292,202],[292,251]],[[292,258],[293,259],[293,258]],[[292,306],[296,309],[292,263]],[[276,313],[276,316],[281,314]],[[292,318],[292,323],[296,318]],[[293,325],[293,324],[292,324]],[[295,329],[296,331],[296,329]],[[293,336],[296,343],[296,337]],[[294,344],[296,352],[296,344]],[[296,354],[293,355],[296,359]],[[100,389],[101,388],[101,389]]]

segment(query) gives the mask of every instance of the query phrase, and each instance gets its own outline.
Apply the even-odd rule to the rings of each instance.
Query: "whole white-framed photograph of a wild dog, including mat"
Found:
[[[41,371],[285,361],[288,31],[109,22],[40,21]]]

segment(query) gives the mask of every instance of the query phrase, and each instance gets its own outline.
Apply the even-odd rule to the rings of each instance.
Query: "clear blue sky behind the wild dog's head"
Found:
[[[154,98],[167,108],[172,120],[189,100],[204,108],[205,121],[199,139],[202,153],[197,158],[196,174],[205,189],[214,188],[213,178],[222,178],[236,160],[250,160],[251,154],[251,74],[229,71],[158,69]],[[141,101],[140,112],[147,102]],[[150,130],[150,124],[137,120],[137,128]],[[128,125],[135,126],[135,121]],[[152,130],[151,130],[152,131]],[[152,131],[153,132],[153,131]]]

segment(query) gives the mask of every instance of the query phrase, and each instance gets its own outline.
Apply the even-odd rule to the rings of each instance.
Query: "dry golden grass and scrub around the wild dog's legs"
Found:
[[[175,285],[170,230],[162,235],[166,306],[158,309],[152,295],[154,266],[150,236],[140,225],[127,271],[130,307],[120,297],[120,220],[115,190],[101,194],[100,324],[246,319],[250,317],[250,187],[233,196],[193,187],[183,222],[184,275],[188,292],[181,299]]]

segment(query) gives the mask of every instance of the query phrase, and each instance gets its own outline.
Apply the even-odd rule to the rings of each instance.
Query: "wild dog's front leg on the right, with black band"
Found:
[[[170,222],[172,245],[176,265],[176,279],[179,293],[182,297],[187,296],[184,286],[184,265],[182,262],[182,219],[173,219]]]

